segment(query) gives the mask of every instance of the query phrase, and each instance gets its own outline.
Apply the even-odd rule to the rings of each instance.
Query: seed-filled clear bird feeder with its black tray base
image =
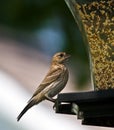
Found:
[[[59,94],[57,113],[114,127],[114,0],[65,0],[89,53],[93,91]]]

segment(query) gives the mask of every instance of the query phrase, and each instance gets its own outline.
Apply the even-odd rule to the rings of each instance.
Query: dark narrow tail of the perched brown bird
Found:
[[[19,121],[21,119],[21,117],[25,114],[26,111],[28,111],[28,109],[30,109],[32,106],[34,106],[36,103],[34,100],[30,100],[28,102],[28,104],[26,105],[26,107],[22,110],[22,112],[19,114],[19,116],[17,117],[17,121]]]

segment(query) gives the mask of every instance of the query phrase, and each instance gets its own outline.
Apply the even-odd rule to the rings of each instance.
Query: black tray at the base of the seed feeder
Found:
[[[77,115],[83,125],[114,127],[114,90],[62,93],[56,113]]]

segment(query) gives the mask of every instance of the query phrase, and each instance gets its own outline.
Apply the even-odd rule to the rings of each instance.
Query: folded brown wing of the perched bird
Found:
[[[49,86],[52,82],[56,81],[62,73],[63,71],[61,68],[51,69],[42,81],[42,83],[39,85],[35,93],[33,94],[32,98],[36,96],[38,93],[40,93],[44,88]]]

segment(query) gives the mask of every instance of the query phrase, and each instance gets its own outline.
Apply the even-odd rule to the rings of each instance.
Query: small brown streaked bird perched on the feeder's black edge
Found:
[[[66,66],[66,61],[69,58],[70,55],[66,52],[57,52],[54,54],[47,75],[37,87],[25,108],[18,115],[17,121],[19,121],[31,107],[44,100],[49,100],[53,103],[56,102],[56,99],[53,97],[64,89],[69,78],[69,71]]]

